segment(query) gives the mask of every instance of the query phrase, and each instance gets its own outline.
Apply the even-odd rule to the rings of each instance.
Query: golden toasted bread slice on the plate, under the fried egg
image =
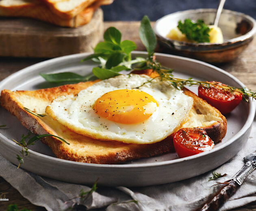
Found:
[[[127,160],[160,155],[165,152],[174,152],[172,136],[158,143],[145,145],[99,141],[72,132],[49,116],[36,117],[24,110],[24,107],[27,107],[35,113],[44,113],[46,106],[54,98],[69,94],[76,95],[80,90],[86,89],[95,82],[81,82],[35,91],[12,92],[2,90],[0,104],[33,133],[54,134],[69,142],[70,145],[67,145],[52,136],[41,139],[52,149],[57,158],[87,163],[116,164]],[[215,142],[220,141],[226,134],[226,118],[217,109],[189,90],[184,90],[184,93],[194,99],[193,111],[191,111],[191,117],[185,126],[204,128]]]

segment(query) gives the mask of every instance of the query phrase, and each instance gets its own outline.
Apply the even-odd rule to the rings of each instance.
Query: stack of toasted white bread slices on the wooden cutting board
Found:
[[[58,26],[88,23],[94,11],[113,0],[0,0],[0,16],[28,17]]]

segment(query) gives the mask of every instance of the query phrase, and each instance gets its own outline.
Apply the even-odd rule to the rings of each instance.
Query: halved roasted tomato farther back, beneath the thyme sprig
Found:
[[[206,100],[206,102],[218,109],[222,114],[230,113],[241,102],[242,94],[223,89],[220,85],[225,86],[225,84],[220,82],[211,82],[218,84],[210,85],[209,88],[199,86],[198,96]]]

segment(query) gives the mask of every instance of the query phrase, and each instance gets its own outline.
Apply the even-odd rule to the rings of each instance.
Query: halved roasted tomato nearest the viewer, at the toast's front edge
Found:
[[[208,151],[213,147],[213,141],[200,128],[181,128],[174,134],[174,148],[180,158]]]

